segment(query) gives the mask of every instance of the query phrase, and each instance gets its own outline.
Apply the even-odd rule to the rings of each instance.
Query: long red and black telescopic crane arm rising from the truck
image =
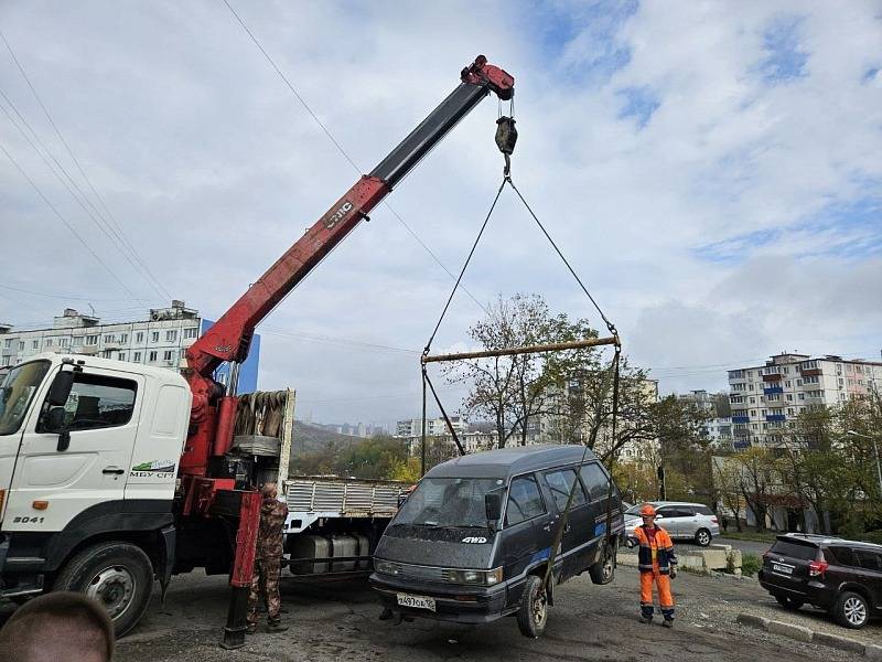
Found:
[[[362,177],[294,243],[248,291],[186,352],[185,376],[193,392],[190,436],[181,472],[209,477],[212,457],[223,457],[233,441],[238,365],[248,356],[255,328],[342,242],[408,172],[491,92],[514,95],[515,79],[478,55],[461,74],[460,85],[369,173]],[[226,388],[213,378],[230,363]]]

